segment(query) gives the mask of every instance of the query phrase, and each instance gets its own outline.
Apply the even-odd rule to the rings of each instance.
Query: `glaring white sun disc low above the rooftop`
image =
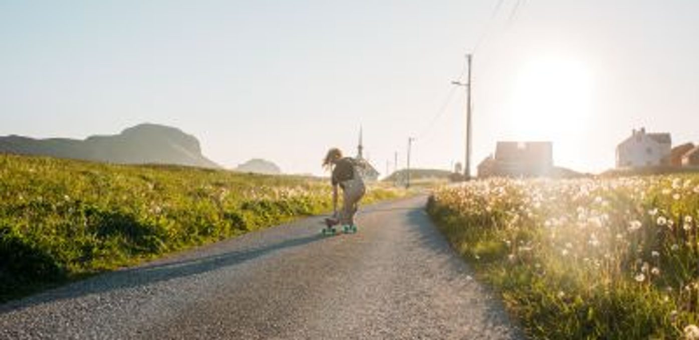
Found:
[[[510,131],[528,140],[574,137],[591,118],[591,86],[589,71],[575,59],[532,59],[514,82]]]

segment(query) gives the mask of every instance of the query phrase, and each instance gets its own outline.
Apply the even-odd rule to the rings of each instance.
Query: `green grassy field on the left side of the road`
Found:
[[[328,212],[327,182],[0,154],[0,302]],[[401,195],[370,187],[363,202]]]

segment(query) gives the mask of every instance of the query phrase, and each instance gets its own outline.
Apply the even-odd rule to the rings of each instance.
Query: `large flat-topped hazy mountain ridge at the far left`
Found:
[[[73,158],[121,164],[175,164],[221,168],[201,154],[199,140],[178,128],[140,124],[119,135],[95,135],[86,140],[37,140],[17,135],[0,137],[0,152]]]

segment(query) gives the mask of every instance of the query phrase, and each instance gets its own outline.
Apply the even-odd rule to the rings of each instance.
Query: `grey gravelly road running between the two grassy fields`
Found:
[[[359,233],[321,217],[0,305],[0,339],[520,339],[424,212],[364,207]]]

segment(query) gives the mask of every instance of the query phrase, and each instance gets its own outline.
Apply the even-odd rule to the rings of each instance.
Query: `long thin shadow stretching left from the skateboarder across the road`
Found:
[[[311,242],[316,242],[326,237],[322,235],[311,235],[287,239],[282,242],[265,244],[252,249],[241,251],[229,251],[227,253],[213,256],[192,258],[175,262],[166,262],[155,265],[144,265],[133,269],[125,269],[117,272],[100,274],[91,279],[78,281],[50,290],[45,293],[34,295],[23,300],[8,302],[0,305],[0,313],[8,313],[19,309],[25,309],[38,304],[45,304],[57,300],[72,299],[90,294],[108,293],[111,290],[120,290],[146,286],[160,281],[168,281],[186,276],[210,272],[222,267],[238,265],[247,260],[259,258],[268,253],[289,249],[296,246],[303,246]]]

